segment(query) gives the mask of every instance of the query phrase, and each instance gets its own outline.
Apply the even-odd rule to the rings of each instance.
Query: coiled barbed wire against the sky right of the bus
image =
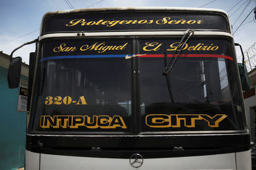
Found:
[[[251,45],[245,52],[245,65],[248,72],[256,68],[256,42]],[[237,58],[237,62],[242,63],[242,55]]]

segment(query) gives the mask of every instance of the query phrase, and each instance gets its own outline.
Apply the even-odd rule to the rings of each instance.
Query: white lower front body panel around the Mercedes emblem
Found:
[[[143,155],[142,155],[143,156]],[[237,158],[236,158],[237,157]],[[185,169],[237,169],[250,170],[251,158],[250,150],[244,152],[205,155],[205,156],[186,156],[178,158],[154,158],[144,159],[143,164],[139,168],[131,166],[129,159],[115,158],[89,158],[80,156],[61,156],[61,155],[40,155],[40,164],[35,165],[38,161],[39,154],[26,151],[26,170],[36,170],[40,166],[40,170],[48,169],[154,169],[154,170],[185,170]],[[31,159],[31,161],[30,161]],[[236,162],[237,159],[237,162]]]

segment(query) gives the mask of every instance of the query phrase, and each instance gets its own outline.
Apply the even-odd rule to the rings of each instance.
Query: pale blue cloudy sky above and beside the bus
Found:
[[[68,0],[75,9],[101,7],[200,7],[217,8],[228,12],[233,32],[246,16],[256,6],[256,0]],[[213,1],[213,2],[212,2]],[[0,0],[0,51],[10,54],[13,49],[36,39],[39,28],[46,12],[71,10],[67,0]],[[210,3],[212,2],[212,3]],[[239,2],[239,3],[238,3]],[[209,3],[208,5],[206,5]],[[238,3],[237,6],[235,6]],[[235,6],[235,7],[234,7]],[[247,6],[247,7],[246,7]],[[232,8],[233,7],[233,8]],[[244,10],[245,9],[245,10]],[[243,11],[244,10],[244,11]],[[256,21],[254,12],[247,17],[241,27],[234,33],[234,41],[241,44],[243,51],[256,41]],[[35,51],[35,45],[23,46],[13,57],[22,57],[22,61],[29,62],[29,53]],[[240,56],[237,50],[237,56]]]

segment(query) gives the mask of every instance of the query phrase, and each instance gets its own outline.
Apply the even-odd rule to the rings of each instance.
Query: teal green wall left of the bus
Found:
[[[24,167],[26,113],[17,112],[18,89],[9,89],[8,70],[0,67],[0,169]],[[26,76],[20,79],[28,80]]]

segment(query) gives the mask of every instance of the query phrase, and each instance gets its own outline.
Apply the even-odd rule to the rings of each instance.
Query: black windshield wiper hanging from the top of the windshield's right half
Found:
[[[181,53],[181,49],[184,48],[184,45],[187,43],[189,38],[193,35],[194,31],[187,29],[187,31],[184,33],[183,37],[181,38],[179,45],[177,46],[177,49],[175,50],[174,54],[172,54],[171,61],[168,62],[167,64],[167,45],[165,44],[165,49],[164,49],[164,67],[166,70],[164,70],[163,75],[166,76],[166,82],[168,86],[168,91],[170,94],[171,102],[174,103],[174,98],[172,97],[172,88],[171,88],[171,82],[170,82],[170,75],[169,73],[171,72],[172,68],[174,67],[177,58],[179,57],[179,54]],[[187,37],[187,38],[186,38]],[[177,52],[179,51],[179,52]],[[177,53],[177,56],[174,60],[174,56]],[[174,62],[172,62],[174,60]]]

